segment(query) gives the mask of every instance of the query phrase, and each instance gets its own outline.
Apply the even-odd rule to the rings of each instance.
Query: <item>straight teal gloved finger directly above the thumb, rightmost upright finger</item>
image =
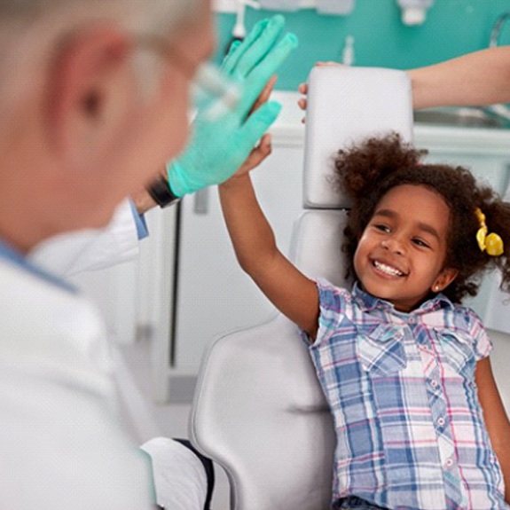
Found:
[[[265,87],[265,84],[270,80],[272,75],[275,75],[290,53],[297,48],[297,44],[297,37],[294,34],[286,34],[247,78],[237,108],[241,118],[247,115],[255,103],[256,98],[259,97]]]

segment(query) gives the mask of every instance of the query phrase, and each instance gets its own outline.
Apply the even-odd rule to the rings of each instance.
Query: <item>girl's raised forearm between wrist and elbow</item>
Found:
[[[255,196],[248,175],[219,186],[227,230],[240,266],[248,274],[267,268],[267,261],[278,253],[271,225]]]

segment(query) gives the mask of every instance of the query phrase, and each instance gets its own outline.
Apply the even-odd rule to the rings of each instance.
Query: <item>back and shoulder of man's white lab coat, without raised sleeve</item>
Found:
[[[16,263],[0,281],[0,508],[152,508],[97,311]]]

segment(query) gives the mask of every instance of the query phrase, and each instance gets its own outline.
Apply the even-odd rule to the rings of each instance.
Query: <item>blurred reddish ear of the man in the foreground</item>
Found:
[[[83,161],[97,144],[113,136],[129,107],[127,35],[96,27],[71,36],[50,71],[47,122],[53,148],[71,161]],[[78,156],[77,159],[76,156]],[[70,162],[71,162],[70,161]]]

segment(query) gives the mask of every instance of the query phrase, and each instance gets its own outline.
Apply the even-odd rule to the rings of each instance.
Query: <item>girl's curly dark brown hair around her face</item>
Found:
[[[427,151],[404,144],[396,133],[370,138],[337,153],[338,184],[353,202],[343,247],[351,261],[349,274],[355,274],[352,261],[357,241],[381,198],[391,188],[416,184],[439,193],[451,212],[444,267],[454,268],[459,274],[443,294],[452,302],[477,294],[483,272],[494,268],[501,271],[501,289],[510,292],[510,203],[501,200],[489,186],[477,183],[468,169],[421,163],[425,154]],[[490,256],[478,247],[477,208],[483,211],[489,231],[497,232],[504,240],[503,255]]]

